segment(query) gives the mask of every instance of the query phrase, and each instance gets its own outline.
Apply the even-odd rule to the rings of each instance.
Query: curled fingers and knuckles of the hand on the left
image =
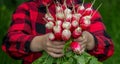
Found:
[[[52,57],[61,57],[63,56],[63,47],[65,42],[63,41],[50,41],[47,39],[45,43],[41,43],[43,50],[45,50]]]

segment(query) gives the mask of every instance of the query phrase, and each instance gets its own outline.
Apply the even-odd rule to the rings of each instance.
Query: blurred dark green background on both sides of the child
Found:
[[[7,32],[11,22],[11,15],[19,4],[27,0],[0,0],[0,47],[2,39]],[[93,0],[85,0],[91,2]],[[120,0],[96,0],[95,8],[103,3],[99,9],[107,33],[111,36],[115,46],[115,53],[105,60],[104,64],[120,64]],[[14,60],[4,53],[0,48],[0,64],[21,64],[20,60]]]

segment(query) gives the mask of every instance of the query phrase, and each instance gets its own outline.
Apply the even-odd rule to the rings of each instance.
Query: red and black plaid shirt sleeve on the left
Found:
[[[12,15],[8,33],[3,39],[2,49],[15,59],[27,56],[30,42],[35,37],[31,34],[31,22],[27,4],[21,4]]]

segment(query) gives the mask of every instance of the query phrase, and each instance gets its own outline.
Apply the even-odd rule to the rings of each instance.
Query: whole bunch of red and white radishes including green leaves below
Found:
[[[74,41],[74,39],[82,36],[83,31],[88,30],[91,25],[91,19],[101,4],[94,11],[92,6],[95,0],[90,6],[84,6],[84,0],[81,5],[74,5],[73,0],[70,0],[72,9],[69,9],[66,5],[66,0],[64,0],[63,4],[59,2],[55,3],[55,14],[53,14],[53,11],[51,13],[48,9],[50,5],[48,2],[51,0],[42,1],[47,9],[47,13],[43,18],[46,21],[45,26],[52,31],[48,38],[52,41],[62,40],[66,42],[63,48],[64,56],[53,58],[47,52],[43,51],[42,56],[32,64],[102,64],[96,57],[84,52],[79,42]],[[67,51],[69,47],[72,51]]]

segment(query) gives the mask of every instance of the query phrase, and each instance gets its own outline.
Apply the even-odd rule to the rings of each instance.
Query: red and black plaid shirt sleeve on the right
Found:
[[[94,14],[91,21],[89,31],[94,36],[95,47],[93,50],[89,50],[88,53],[96,56],[100,61],[103,61],[113,55],[113,42],[110,36],[106,33],[106,28],[101,20],[99,12]]]

